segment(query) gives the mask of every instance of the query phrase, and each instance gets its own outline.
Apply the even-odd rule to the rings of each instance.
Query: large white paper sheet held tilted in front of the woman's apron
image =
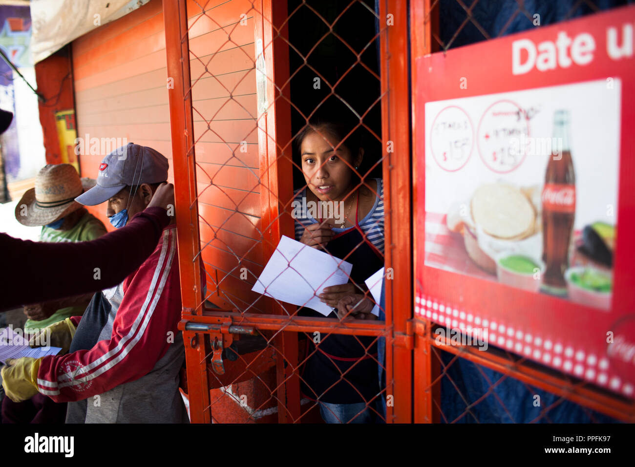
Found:
[[[251,290],[328,316],[333,308],[321,302],[318,295],[325,287],[347,283],[352,267],[349,262],[283,236]]]

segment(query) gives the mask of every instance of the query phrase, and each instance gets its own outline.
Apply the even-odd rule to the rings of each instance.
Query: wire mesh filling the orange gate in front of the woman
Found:
[[[335,313],[327,318],[250,290],[269,259],[267,252],[277,245],[269,231],[284,217],[295,232],[287,228],[281,233],[304,242],[305,249],[316,247],[331,255],[339,264],[375,254],[375,261],[355,264],[347,274],[347,293],[337,295],[354,297],[354,304],[375,306],[364,279],[383,264],[378,13],[368,1],[290,1],[287,17],[273,25],[274,37],[267,43],[255,36],[258,21],[264,22],[264,28],[270,26],[260,4],[187,4],[199,254],[210,290],[208,313],[224,313],[214,307],[241,314],[271,314],[274,309],[284,313],[276,328],[232,334],[230,347],[225,341],[222,348],[224,339],[219,335],[210,336],[206,360],[215,364],[208,365],[211,405],[204,409],[211,409],[214,422],[276,421],[278,410],[285,410],[294,423],[314,421],[319,405],[324,417],[334,421],[384,421],[379,383],[384,363],[377,355],[384,321],[370,313],[359,315],[368,322],[375,318],[371,321],[375,326],[361,335],[346,327],[347,320],[361,321],[355,313],[340,316],[344,319],[340,321]],[[281,58],[290,65],[283,82],[265,71],[274,41],[283,41],[281,50],[288,49],[288,59]],[[271,89],[274,99],[267,102]],[[280,144],[280,135],[266,129],[267,113],[276,107],[290,112],[286,145]],[[304,135],[302,147],[297,145],[298,135]],[[276,160],[268,166],[260,158],[264,144],[276,145]],[[361,158],[360,147],[364,147]],[[300,149],[312,152],[311,158],[301,159]],[[323,151],[330,151],[328,157]],[[291,184],[284,184],[283,196],[272,188],[281,183],[265,178],[274,166],[279,179],[293,179],[293,192]],[[319,183],[328,187],[320,190]],[[272,196],[279,197],[274,201],[278,212],[267,220],[262,206]],[[316,215],[312,206],[322,211]],[[311,230],[305,233],[316,220],[321,224],[327,219],[337,224],[343,239],[337,248],[326,241],[314,245]],[[296,256],[284,258],[288,268],[293,269]],[[266,293],[271,285],[262,283],[262,287]],[[337,308],[337,298],[331,298],[330,308]],[[286,329],[299,317],[311,318],[322,330],[312,332],[309,326],[288,337]],[[337,333],[324,332],[334,322],[342,323]],[[291,350],[283,345],[283,334],[297,342]],[[215,365],[223,368],[219,371]],[[288,386],[294,384],[296,394],[300,388],[300,401],[288,400],[293,392]],[[299,414],[287,408],[293,403],[299,403]],[[356,405],[343,414],[340,403]]]

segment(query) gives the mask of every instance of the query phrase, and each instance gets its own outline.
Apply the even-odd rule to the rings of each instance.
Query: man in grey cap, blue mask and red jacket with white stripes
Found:
[[[130,143],[102,160],[97,185],[76,201],[107,201],[110,222],[123,227],[167,178],[168,159]],[[70,353],[20,362],[36,377],[32,387],[20,381],[7,395],[24,400],[39,391],[55,402],[81,401],[69,403],[67,423],[187,423],[178,391],[185,354],[176,242],[176,227],[168,225],[137,271],[96,294],[81,321],[67,322]],[[201,264],[203,283],[204,274]]]

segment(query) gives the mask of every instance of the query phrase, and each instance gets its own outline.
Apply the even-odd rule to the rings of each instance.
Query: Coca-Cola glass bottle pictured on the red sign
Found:
[[[575,219],[575,172],[569,141],[569,112],[554,115],[554,139],[562,142],[560,154],[550,156],[542,189],[542,261],[545,272],[541,290],[566,295],[565,271],[569,266],[569,245]],[[557,147],[557,146],[556,146]]]

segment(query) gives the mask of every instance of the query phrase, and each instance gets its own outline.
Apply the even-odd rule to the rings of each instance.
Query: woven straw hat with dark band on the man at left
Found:
[[[15,206],[15,219],[23,226],[51,224],[82,207],[76,196],[95,186],[93,179],[80,179],[70,164],[45,165],[37,174],[36,186]]]

